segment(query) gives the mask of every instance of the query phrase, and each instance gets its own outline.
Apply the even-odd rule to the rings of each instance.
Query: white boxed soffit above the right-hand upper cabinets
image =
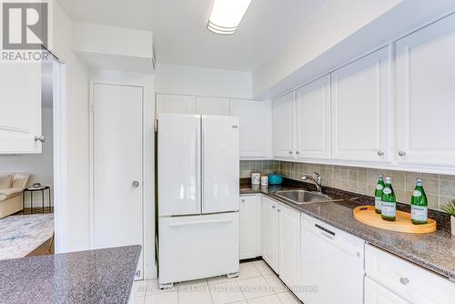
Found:
[[[454,10],[453,0],[329,0],[253,72],[253,96],[281,95]]]

